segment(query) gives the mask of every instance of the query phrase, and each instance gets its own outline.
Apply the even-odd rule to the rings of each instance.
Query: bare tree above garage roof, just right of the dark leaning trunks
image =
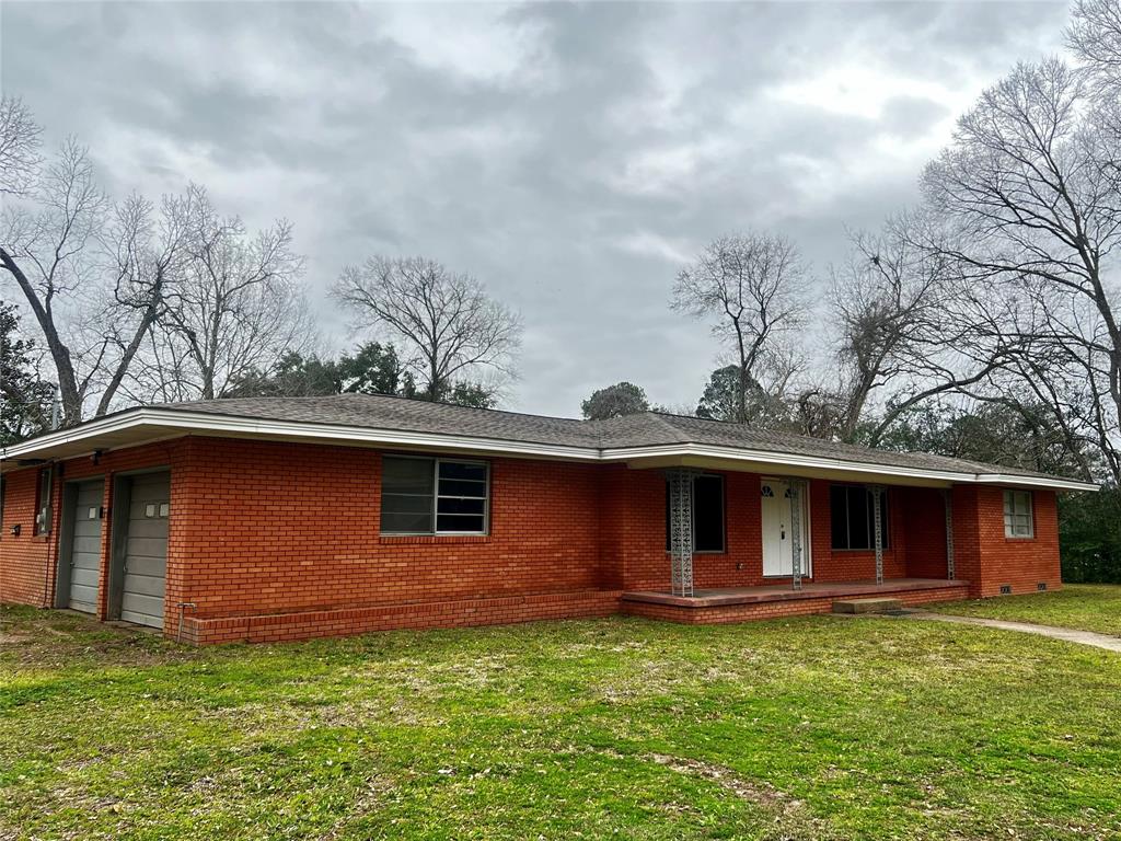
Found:
[[[182,231],[178,279],[165,293],[163,318],[149,325],[132,391],[146,400],[212,400],[307,350],[313,325],[290,223],[250,234],[239,218],[221,216],[197,185],[167,207]]]

